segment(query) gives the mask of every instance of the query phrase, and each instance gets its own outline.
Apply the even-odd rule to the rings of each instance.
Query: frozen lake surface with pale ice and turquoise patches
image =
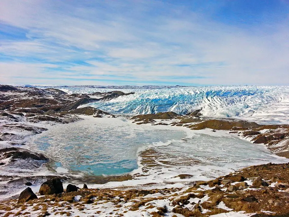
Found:
[[[154,150],[162,160],[143,174],[154,180],[182,173],[204,180],[248,165],[288,162],[262,145],[227,132],[136,125],[124,117],[85,117],[82,121],[55,125],[37,137],[32,146],[52,159],[57,171],[90,175],[142,174],[144,165],[139,156],[145,150]]]

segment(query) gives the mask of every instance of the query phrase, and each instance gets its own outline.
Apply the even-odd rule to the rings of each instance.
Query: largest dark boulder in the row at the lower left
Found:
[[[53,178],[44,182],[39,189],[40,195],[58,194],[63,192],[60,178]]]

